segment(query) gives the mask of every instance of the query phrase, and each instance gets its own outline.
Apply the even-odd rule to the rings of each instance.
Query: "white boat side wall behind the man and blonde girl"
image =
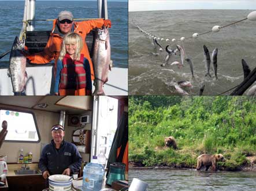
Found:
[[[53,66],[30,66],[26,68],[28,80],[25,94],[27,96],[53,95]],[[8,77],[8,68],[0,69],[0,95],[13,96],[12,81]],[[106,96],[128,95],[128,68],[113,67],[109,71],[109,81],[103,86]],[[92,86],[94,90],[94,86]]]

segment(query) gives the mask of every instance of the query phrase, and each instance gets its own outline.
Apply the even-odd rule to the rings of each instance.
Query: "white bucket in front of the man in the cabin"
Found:
[[[50,191],[68,191],[71,190],[72,179],[68,175],[55,174],[49,177]]]

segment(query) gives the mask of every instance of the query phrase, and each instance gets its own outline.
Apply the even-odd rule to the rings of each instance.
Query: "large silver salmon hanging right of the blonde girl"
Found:
[[[102,29],[96,29],[94,38],[92,63],[95,73],[95,91],[93,94],[105,95],[103,85],[107,82],[110,68],[109,30],[105,26]]]

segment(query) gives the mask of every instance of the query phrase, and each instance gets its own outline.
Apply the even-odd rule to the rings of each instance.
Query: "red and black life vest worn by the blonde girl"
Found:
[[[84,70],[84,55],[80,60],[73,60],[66,54],[62,60],[60,89],[83,89],[86,88],[86,71]]]

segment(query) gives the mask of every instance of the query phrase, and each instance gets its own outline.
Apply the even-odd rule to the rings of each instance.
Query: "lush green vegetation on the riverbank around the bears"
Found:
[[[148,98],[148,97],[147,97]],[[240,170],[256,154],[256,104],[251,97],[129,97],[129,161],[144,166],[196,166],[203,154],[221,153],[220,169]],[[155,102],[157,106],[151,106]],[[164,147],[173,136],[177,150]]]

